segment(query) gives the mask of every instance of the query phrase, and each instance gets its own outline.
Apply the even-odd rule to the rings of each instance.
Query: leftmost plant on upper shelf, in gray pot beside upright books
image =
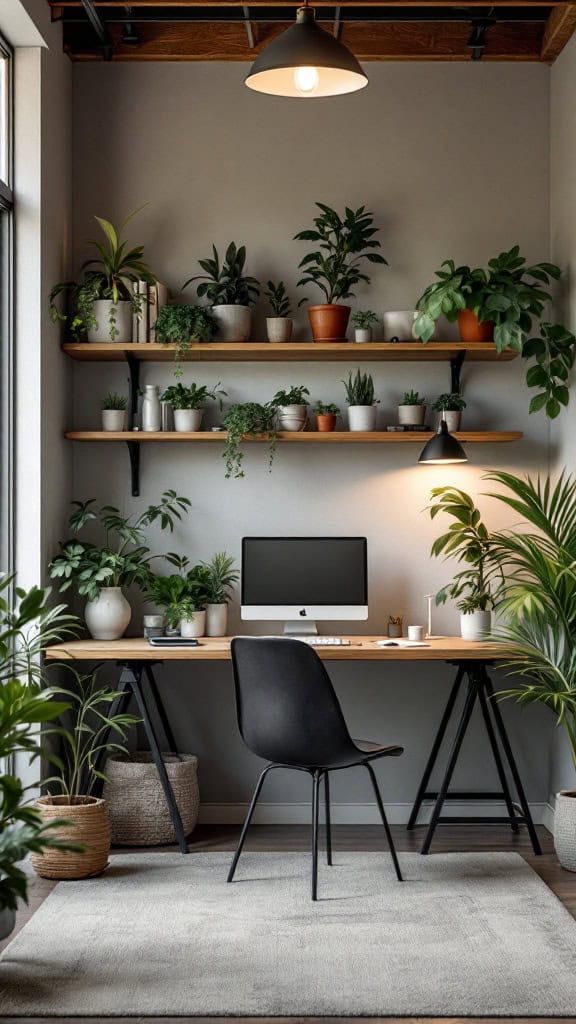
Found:
[[[132,338],[132,315],[141,315],[142,296],[134,285],[145,281],[157,283],[156,275],[143,262],[143,246],[128,249],[122,231],[143,207],[134,210],[122,221],[118,230],[102,217],[94,217],[105,234],[105,241],[90,240],[96,255],[80,267],[81,282],[66,281],[54,285],[50,292],[50,316],[53,323],[65,321],[75,337],[87,334],[88,341],[129,342]],[[60,312],[56,300],[67,295],[71,314]]]

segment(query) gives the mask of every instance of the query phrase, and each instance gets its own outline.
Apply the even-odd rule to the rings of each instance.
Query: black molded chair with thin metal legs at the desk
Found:
[[[232,882],[263,780],[273,768],[307,771],[313,777],[312,898],[318,892],[320,783],[326,799],[326,854],[332,863],[330,831],[331,771],[362,765],[367,769],[382,818],[398,881],[402,873],[371,761],[399,757],[402,746],[353,740],[330,677],[318,654],[300,640],[236,637],[232,641],[238,725],[246,745],[272,762],[262,771],[234,855]]]

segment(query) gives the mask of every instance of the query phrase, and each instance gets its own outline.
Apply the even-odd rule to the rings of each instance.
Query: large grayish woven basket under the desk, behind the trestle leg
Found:
[[[193,754],[163,754],[182,819],[184,836],[198,821],[198,758]],[[160,846],[175,843],[174,827],[152,754],[138,752],[109,758],[105,799],[112,822],[112,841],[118,846]]]

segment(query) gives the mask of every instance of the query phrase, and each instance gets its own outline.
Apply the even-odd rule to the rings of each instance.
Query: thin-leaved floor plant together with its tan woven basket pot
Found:
[[[88,676],[73,672],[73,677],[70,686],[53,688],[71,708],[68,715],[60,715],[57,729],[64,756],[55,761],[54,774],[42,783],[51,792],[34,806],[45,826],[80,849],[33,852],[32,866],[43,879],[91,879],[108,866],[110,818],[106,802],[93,796],[104,777],[98,760],[107,751],[127,753],[127,730],[140,721],[114,710],[120,694],[102,684],[97,671]]]

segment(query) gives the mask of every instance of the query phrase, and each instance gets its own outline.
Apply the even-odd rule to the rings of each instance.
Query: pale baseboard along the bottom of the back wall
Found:
[[[502,804],[498,801],[475,801],[474,804],[450,801],[447,813],[456,816],[498,815],[503,813]],[[390,824],[404,825],[410,817],[412,804],[386,804],[386,814]],[[553,810],[549,804],[534,803],[530,805],[535,824],[543,824],[551,831]],[[248,804],[202,804],[200,821],[202,824],[239,824],[244,820]],[[380,823],[376,804],[332,804],[332,821],[337,825],[374,825]],[[423,808],[419,824],[425,824],[429,819],[430,806]],[[301,825],[308,824],[311,817],[310,803],[300,804],[266,804],[256,807],[253,822],[260,825]]]

